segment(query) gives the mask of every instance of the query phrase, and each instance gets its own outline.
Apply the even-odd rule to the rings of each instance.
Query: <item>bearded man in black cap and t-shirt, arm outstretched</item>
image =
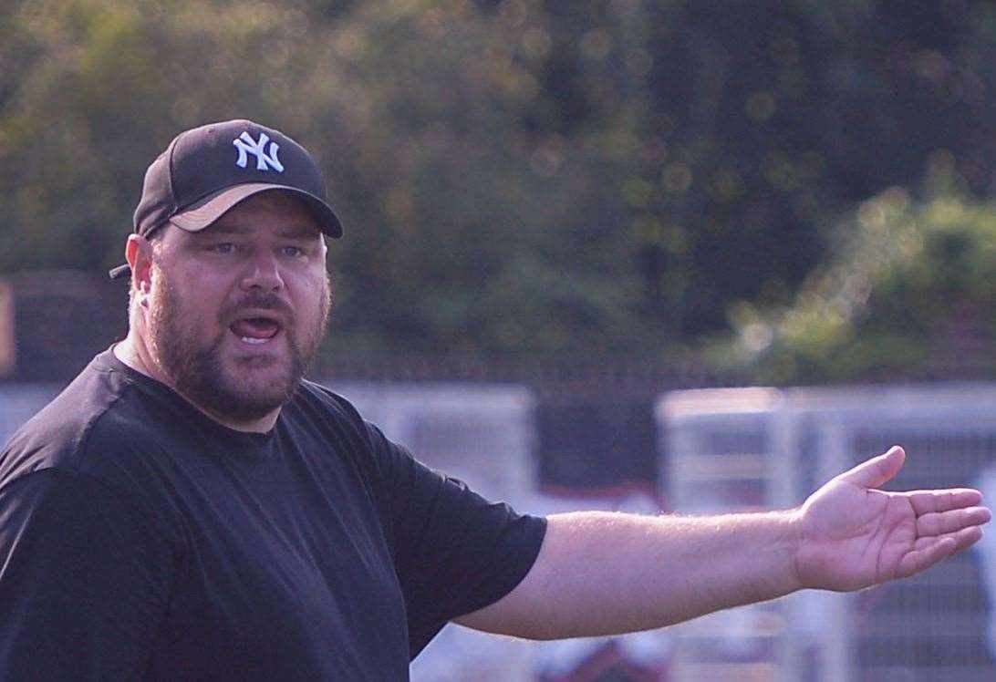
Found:
[[[910,575],[990,518],[974,490],[877,490],[897,447],[785,512],[490,504],[302,379],[341,234],[308,152],[257,123],[187,130],[149,166],[113,271],[126,339],[0,454],[0,679],[406,679],[449,620],[660,627]]]

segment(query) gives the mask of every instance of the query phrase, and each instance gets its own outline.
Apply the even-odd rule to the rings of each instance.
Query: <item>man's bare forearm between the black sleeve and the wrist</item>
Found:
[[[507,608],[509,634],[548,639],[661,627],[771,599],[798,587],[793,519],[551,516],[536,566],[491,608]]]

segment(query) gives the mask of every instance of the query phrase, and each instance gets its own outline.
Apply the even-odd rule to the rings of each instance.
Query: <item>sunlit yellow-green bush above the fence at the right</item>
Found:
[[[996,203],[889,189],[841,227],[794,305],[740,307],[720,349],[762,381],[824,382],[996,368]]]

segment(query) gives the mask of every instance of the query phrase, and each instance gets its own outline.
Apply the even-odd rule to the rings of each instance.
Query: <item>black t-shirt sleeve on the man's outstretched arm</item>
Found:
[[[369,430],[387,488],[413,658],[449,620],[497,601],[526,576],[546,520],[485,500],[418,462],[376,427]]]

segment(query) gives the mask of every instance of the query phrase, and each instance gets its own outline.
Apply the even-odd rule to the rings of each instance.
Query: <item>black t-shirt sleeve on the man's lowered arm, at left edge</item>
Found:
[[[0,679],[141,679],[172,546],[132,500],[59,469],[0,489]]]

